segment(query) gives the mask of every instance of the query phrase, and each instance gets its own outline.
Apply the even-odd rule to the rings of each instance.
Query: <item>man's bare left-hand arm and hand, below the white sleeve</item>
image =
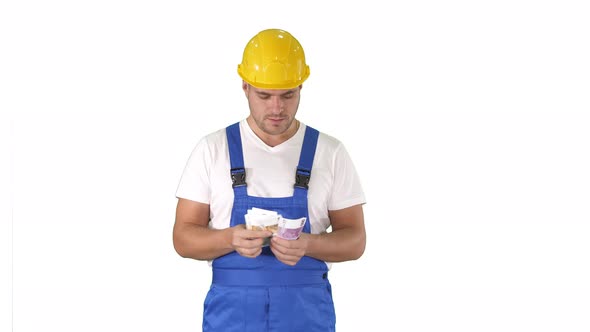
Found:
[[[209,228],[209,205],[180,198],[176,206],[173,242],[186,258],[211,260],[232,251],[246,257],[260,254],[268,231],[250,231],[244,225],[226,229]]]

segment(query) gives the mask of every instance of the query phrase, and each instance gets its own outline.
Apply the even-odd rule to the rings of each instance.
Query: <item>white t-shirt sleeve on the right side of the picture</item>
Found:
[[[335,150],[333,163],[334,185],[328,210],[340,210],[365,204],[365,194],[356,168],[342,143]]]

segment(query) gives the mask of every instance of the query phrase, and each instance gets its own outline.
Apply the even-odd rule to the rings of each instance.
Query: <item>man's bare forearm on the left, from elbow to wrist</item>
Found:
[[[229,229],[210,229],[208,227],[181,224],[174,227],[174,249],[185,258],[212,260],[232,252]]]

